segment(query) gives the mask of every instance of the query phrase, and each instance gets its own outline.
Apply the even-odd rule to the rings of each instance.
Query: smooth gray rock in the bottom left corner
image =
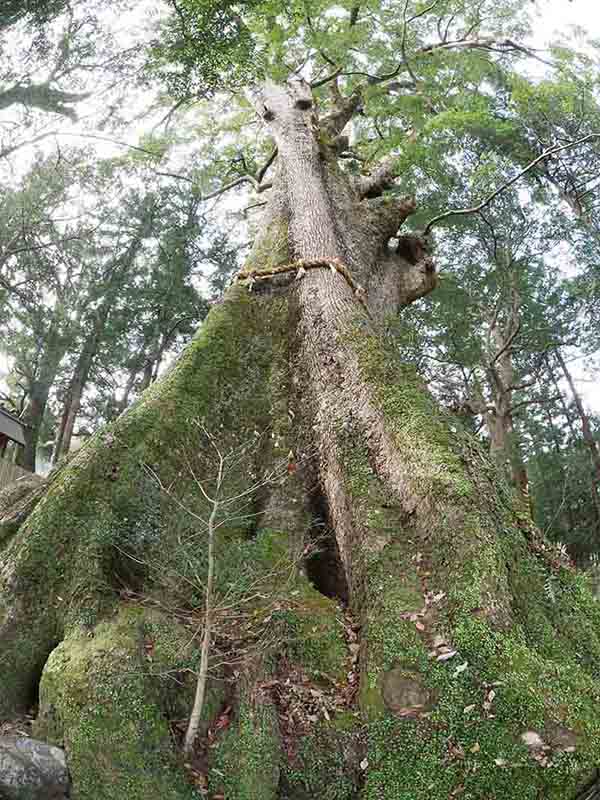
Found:
[[[59,747],[22,736],[0,736],[2,800],[66,800],[69,774]]]

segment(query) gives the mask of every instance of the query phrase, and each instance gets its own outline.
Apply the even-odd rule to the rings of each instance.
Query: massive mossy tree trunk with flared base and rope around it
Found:
[[[243,280],[0,528],[0,716],[39,697],[77,800],[194,780],[226,800],[564,800],[600,760],[600,612],[383,333],[435,278],[417,240],[389,247],[413,209],[381,196],[389,173],[338,168],[351,104],[319,121],[301,84],[262,102],[279,156]]]

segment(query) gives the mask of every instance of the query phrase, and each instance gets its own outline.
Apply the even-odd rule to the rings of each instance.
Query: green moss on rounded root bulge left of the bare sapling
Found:
[[[159,630],[158,639],[148,638]],[[53,651],[40,684],[36,735],[64,745],[75,800],[196,796],[164,714],[163,656],[171,669],[182,669],[185,662],[174,663],[173,655],[187,638],[172,621],[132,606],[92,635],[72,633]]]

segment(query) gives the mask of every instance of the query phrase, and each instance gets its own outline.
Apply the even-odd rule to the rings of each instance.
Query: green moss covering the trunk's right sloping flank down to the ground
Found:
[[[412,369],[375,337],[353,346],[402,453],[397,486],[414,507],[365,559],[365,800],[574,795],[600,760],[597,605]],[[381,490],[366,448],[347,464],[353,495],[373,509]],[[446,662],[436,660],[436,636],[456,650]],[[431,707],[395,716],[384,696],[390,675],[404,675]],[[527,731],[547,743],[549,766],[528,750]]]

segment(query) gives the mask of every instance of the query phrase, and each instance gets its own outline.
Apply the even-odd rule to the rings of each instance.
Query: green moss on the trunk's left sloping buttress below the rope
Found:
[[[181,514],[148,467],[160,464],[163,484],[175,486],[179,501],[202,516],[188,463],[210,491],[215,457],[202,435],[204,421],[224,452],[246,444],[223,491],[231,496],[248,488],[258,468],[252,442],[271,411],[270,371],[285,347],[285,313],[280,299],[230,293],[175,368],[92,437],[4,544],[10,569],[2,574],[11,577],[10,585],[0,578],[0,609],[14,619],[14,634],[5,633],[0,647],[0,714],[28,706],[52,647],[80,625],[107,617],[123,584],[143,590],[149,583],[154,591],[170,582],[163,590],[181,601],[178,588],[190,577],[181,569],[189,569],[188,556],[198,565],[202,532],[190,517],[182,547]],[[236,521],[231,533],[244,536],[248,525]]]

